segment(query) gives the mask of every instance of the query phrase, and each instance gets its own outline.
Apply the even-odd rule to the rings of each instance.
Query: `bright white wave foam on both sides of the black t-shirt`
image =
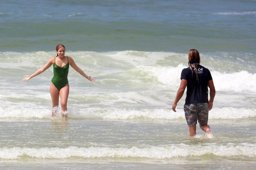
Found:
[[[174,89],[179,87],[181,70],[186,67],[182,64],[177,67],[143,66],[145,71],[155,76],[159,82]],[[256,92],[256,74],[248,71],[234,73],[211,71],[211,74],[217,91]]]

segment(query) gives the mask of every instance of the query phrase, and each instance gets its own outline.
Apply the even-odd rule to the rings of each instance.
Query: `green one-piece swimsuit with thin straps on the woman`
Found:
[[[65,66],[60,67],[55,63],[55,59],[53,64],[52,84],[60,91],[60,89],[62,89],[64,86],[66,86],[66,84],[68,84],[69,62]]]

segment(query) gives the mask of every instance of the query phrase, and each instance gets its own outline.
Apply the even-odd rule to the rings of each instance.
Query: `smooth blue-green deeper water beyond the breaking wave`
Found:
[[[3,1],[0,51],[255,53],[255,1]]]

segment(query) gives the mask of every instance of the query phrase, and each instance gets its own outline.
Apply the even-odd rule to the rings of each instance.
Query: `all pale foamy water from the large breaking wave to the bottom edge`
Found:
[[[212,77],[217,93],[209,112],[215,138],[207,139],[199,127],[197,136],[190,138],[182,109],[185,95],[177,113],[171,110],[186,54],[67,53],[87,74],[94,75],[96,82],[86,81],[70,68],[66,120],[60,113],[51,116],[51,68],[21,82],[24,74],[39,68],[53,53],[1,53],[3,169],[252,169],[256,157],[256,73],[251,68],[222,72],[215,64],[217,59],[212,60],[215,63],[202,59],[209,69],[215,65]],[[30,60],[33,55],[39,57]],[[163,62],[165,56],[177,63]]]

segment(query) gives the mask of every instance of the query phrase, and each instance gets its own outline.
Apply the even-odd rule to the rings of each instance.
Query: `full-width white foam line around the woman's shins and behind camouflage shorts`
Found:
[[[100,119],[100,120],[176,120],[185,119],[183,109],[70,109],[68,119]],[[209,119],[246,119],[256,117],[256,108],[213,108],[209,111]],[[45,108],[1,108],[0,118],[60,118],[60,112],[52,118],[51,110]]]

